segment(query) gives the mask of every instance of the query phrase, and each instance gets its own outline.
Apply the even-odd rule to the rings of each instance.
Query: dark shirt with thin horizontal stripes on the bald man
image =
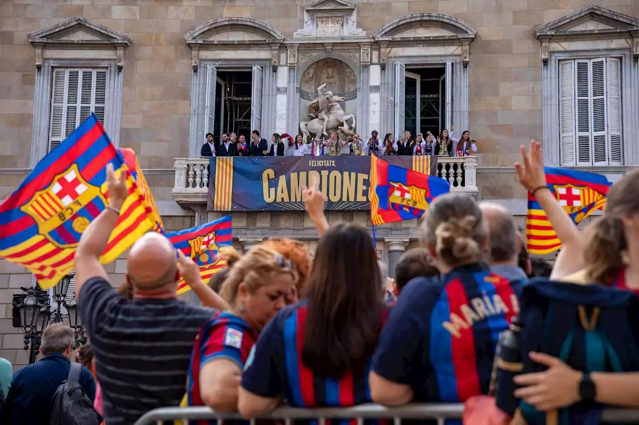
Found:
[[[179,406],[193,341],[215,310],[178,299],[127,300],[103,278],[86,281],[78,303],[106,423],[134,424],[149,410]]]

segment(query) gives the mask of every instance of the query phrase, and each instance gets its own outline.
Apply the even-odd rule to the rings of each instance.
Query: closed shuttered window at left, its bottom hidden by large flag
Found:
[[[104,125],[107,70],[55,68],[51,94],[49,152],[91,113]]]

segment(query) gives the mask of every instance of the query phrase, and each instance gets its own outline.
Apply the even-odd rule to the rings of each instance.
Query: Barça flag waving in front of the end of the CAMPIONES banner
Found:
[[[424,215],[433,198],[450,191],[436,176],[391,165],[371,155],[371,217],[373,225]]]

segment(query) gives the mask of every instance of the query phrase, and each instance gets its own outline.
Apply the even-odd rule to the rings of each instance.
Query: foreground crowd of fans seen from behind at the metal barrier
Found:
[[[639,294],[639,172],[615,183],[605,214],[583,234],[544,190],[539,143],[522,150],[520,183],[563,244],[551,279]],[[450,193],[427,210],[420,248],[403,255],[395,280],[383,281],[369,232],[329,226],[314,185],[304,190],[320,236],[313,257],[300,242],[270,239],[244,255],[225,253],[227,269],[206,285],[190,258],[176,264],[171,242],[150,232],[132,246],[127,284],[116,290],[99,259],[127,186],[112,169],[108,186],[112,208],[89,225],[75,256],[90,340],[76,356],[86,366],[80,385],[107,425],[134,424],[162,406],[251,418],[282,403],[401,406],[488,394],[500,333],[520,311],[528,277],[548,272],[527,257],[507,209]],[[180,276],[201,306],[177,299]],[[71,345],[70,328],[47,328],[42,359],[13,376],[4,423],[49,424],[47,401],[70,371]],[[639,406],[638,373],[583,374],[548,354],[530,357],[548,369],[518,375],[515,394],[537,410],[581,400]],[[581,391],[585,380],[594,394]]]

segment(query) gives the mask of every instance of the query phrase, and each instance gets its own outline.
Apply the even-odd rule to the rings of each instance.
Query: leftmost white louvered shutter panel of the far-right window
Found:
[[[559,65],[559,126],[561,164],[574,165],[574,61]]]

